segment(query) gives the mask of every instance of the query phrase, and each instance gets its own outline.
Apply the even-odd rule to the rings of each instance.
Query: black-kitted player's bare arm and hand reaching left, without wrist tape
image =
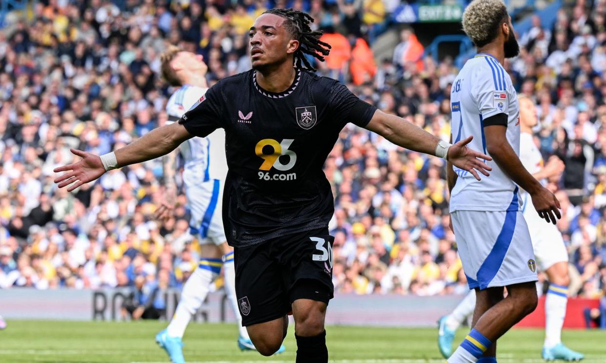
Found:
[[[176,122],[153,129],[135,142],[116,150],[115,159],[113,160],[115,165],[109,166],[104,165],[98,155],[71,149],[72,154],[82,159],[76,163],[55,168],[55,172],[66,171],[65,174],[55,178],[55,183],[59,183],[59,188],[69,185],[67,191],[71,192],[82,184],[101,177],[109,169],[122,168],[123,166],[146,162],[166,155],[191,137],[193,135],[187,132],[183,125]]]

